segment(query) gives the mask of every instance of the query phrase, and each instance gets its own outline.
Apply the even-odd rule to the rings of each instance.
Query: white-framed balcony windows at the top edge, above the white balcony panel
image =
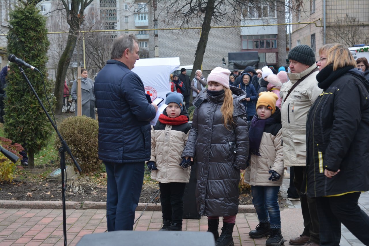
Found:
[[[256,18],[276,18],[276,4],[274,2],[261,1],[259,8],[249,4],[242,9],[242,16],[244,19]]]

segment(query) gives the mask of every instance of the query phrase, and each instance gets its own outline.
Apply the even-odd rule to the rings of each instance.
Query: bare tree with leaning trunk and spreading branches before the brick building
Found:
[[[151,6],[153,9],[156,6],[160,6],[157,18],[169,28],[188,28],[201,25],[200,40],[197,44],[193,63],[194,68],[199,68],[203,62],[211,26],[221,26],[224,23],[233,26],[239,25],[242,10],[244,8],[253,8],[262,12],[261,3],[274,6],[273,9],[275,11],[281,11],[282,14],[285,14],[285,8],[280,7],[286,4],[282,0],[149,0],[148,6]],[[135,4],[139,4],[139,1],[136,0]],[[279,8],[276,9],[276,6],[279,6]],[[267,19],[263,21],[268,22]],[[285,35],[285,31],[281,35]],[[193,69],[190,78],[194,77],[195,72],[196,69]]]

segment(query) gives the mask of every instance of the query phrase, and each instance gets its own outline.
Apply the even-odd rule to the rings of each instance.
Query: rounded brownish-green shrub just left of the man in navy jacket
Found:
[[[59,132],[83,173],[100,170],[101,160],[98,156],[99,144],[97,140],[99,123],[97,120],[87,116],[68,117],[60,124]],[[55,149],[58,150],[60,146],[59,139],[55,140]],[[65,153],[65,160],[72,163],[72,159],[67,153]]]

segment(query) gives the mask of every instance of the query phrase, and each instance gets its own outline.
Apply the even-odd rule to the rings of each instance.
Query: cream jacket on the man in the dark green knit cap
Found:
[[[294,83],[300,78],[309,74],[317,66],[308,67],[299,74],[287,74],[290,79],[280,90],[282,98],[282,136],[283,136],[283,156],[284,166],[305,166],[306,165],[306,118],[311,105],[315,99],[323,92],[318,88],[316,76],[319,71],[315,71],[305,78],[290,93],[286,101],[284,98]]]

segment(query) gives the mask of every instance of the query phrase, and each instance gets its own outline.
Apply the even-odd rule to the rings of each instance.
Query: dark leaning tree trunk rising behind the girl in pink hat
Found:
[[[192,81],[192,79],[195,77],[196,74],[195,68],[197,69],[201,68],[201,64],[203,63],[206,44],[211,28],[211,17],[213,16],[214,9],[215,9],[215,0],[209,0],[206,6],[204,21],[203,24],[201,25],[201,36],[196,48],[195,61],[193,62],[194,69],[192,69],[190,81]]]

